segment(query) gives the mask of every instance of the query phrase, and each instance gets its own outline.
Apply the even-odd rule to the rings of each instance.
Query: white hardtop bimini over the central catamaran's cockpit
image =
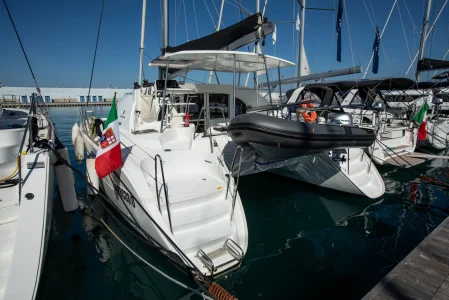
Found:
[[[165,56],[154,59],[149,66],[166,67],[168,59],[169,73],[171,73],[170,69],[233,72],[234,57],[236,59],[235,71],[242,73],[256,71],[263,73],[265,71],[265,61],[267,69],[292,67],[295,65],[281,58],[257,53],[225,50],[192,50],[166,54]]]

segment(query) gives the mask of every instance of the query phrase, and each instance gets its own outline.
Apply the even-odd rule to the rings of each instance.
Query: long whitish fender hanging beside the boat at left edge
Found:
[[[69,151],[62,143],[58,143],[56,150],[61,157],[70,164]],[[65,211],[74,211],[78,208],[78,200],[75,192],[75,178],[72,170],[62,161],[55,163],[55,175],[58,181],[58,190],[61,195],[62,206]]]

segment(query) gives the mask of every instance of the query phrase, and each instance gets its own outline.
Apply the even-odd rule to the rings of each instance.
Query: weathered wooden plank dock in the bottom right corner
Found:
[[[449,300],[449,218],[363,297],[390,299]]]

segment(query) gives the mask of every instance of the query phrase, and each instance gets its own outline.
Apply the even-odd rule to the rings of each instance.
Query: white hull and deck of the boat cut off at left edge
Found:
[[[20,156],[19,167],[16,155],[24,128],[2,125],[25,125],[28,112],[14,111],[13,118],[8,120],[8,111],[0,118],[0,140],[5,141],[0,145],[1,182],[7,183],[4,180],[8,177],[22,179],[21,183],[5,184],[1,189],[0,299],[35,299],[50,237],[56,159],[51,151],[34,148],[34,152]],[[38,135],[53,140],[46,120],[40,122]],[[28,134],[25,144],[27,140]]]

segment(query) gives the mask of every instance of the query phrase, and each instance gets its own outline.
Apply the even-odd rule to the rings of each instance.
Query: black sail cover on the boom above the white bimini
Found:
[[[273,32],[273,24],[256,13],[227,28],[185,44],[162,50],[162,54],[190,50],[236,50]]]

